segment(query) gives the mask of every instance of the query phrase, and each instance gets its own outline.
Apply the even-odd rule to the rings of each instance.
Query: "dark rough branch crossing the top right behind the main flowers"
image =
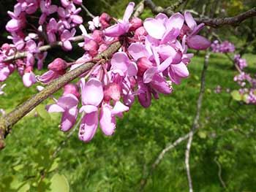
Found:
[[[173,15],[173,9],[171,7],[166,7],[166,8],[159,7],[156,4],[154,4],[154,2],[151,0],[145,0],[145,6],[151,9],[151,12],[153,12],[154,14],[158,14],[159,12],[162,12],[168,16]],[[206,26],[217,28],[217,27],[227,26],[227,25],[237,26],[242,21],[255,16],[256,16],[256,7],[253,7],[252,9],[249,9],[246,12],[242,12],[230,18],[195,18],[195,21],[197,23],[205,23]]]

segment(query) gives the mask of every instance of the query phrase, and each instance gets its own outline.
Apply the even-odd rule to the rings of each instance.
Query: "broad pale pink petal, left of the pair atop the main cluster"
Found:
[[[146,28],[148,34],[156,39],[162,39],[166,31],[164,24],[154,18],[147,18],[143,26]]]

